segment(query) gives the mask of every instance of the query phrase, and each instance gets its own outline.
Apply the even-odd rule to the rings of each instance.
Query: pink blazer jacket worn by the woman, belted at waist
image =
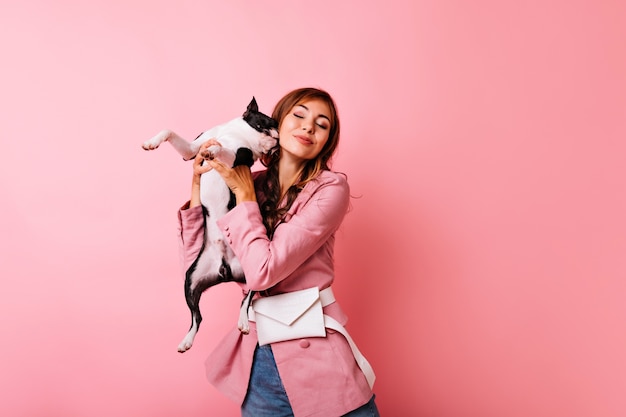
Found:
[[[263,173],[255,173],[258,181]],[[258,189],[258,187],[257,187]],[[263,196],[257,191],[259,202]],[[317,286],[334,279],[335,231],[348,209],[350,190],[343,175],[323,171],[300,192],[272,240],[267,238],[259,206],[238,204],[218,224],[239,258],[247,290],[271,289],[280,294]],[[179,211],[180,255],[184,270],[196,259],[204,239],[201,207]],[[347,317],[337,302],[324,308],[342,325]],[[206,361],[209,382],[238,404],[246,395],[256,328],[250,334],[236,327],[226,334]],[[349,330],[349,329],[348,329]],[[325,338],[290,340],[272,344],[283,385],[296,417],[332,417],[365,404],[372,391],[357,365],[345,337],[327,329]]]

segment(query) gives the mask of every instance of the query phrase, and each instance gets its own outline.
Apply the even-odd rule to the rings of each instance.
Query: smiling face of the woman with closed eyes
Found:
[[[330,108],[319,99],[296,104],[283,118],[278,131],[282,154],[300,161],[314,159],[330,134]]]

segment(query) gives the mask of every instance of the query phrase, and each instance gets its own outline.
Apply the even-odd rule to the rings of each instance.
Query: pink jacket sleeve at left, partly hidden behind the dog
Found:
[[[202,206],[189,208],[189,202],[178,210],[178,249],[183,275],[194,263],[204,245]]]

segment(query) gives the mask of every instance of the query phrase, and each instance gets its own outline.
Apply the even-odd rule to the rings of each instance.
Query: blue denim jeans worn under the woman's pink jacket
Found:
[[[285,387],[280,380],[270,345],[254,351],[248,393],[241,406],[242,417],[293,417]],[[374,396],[369,402],[342,417],[380,417]]]

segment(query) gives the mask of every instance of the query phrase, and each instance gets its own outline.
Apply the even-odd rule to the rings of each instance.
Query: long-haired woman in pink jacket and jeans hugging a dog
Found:
[[[218,160],[202,165],[196,157],[191,200],[179,212],[181,255],[187,268],[202,247],[200,176],[215,169],[236,198],[218,224],[242,264],[244,294],[255,294],[249,311],[313,290],[324,300],[326,335],[259,343],[260,334],[271,337],[272,330],[251,316],[209,356],[208,379],[242,404],[244,417],[378,416],[373,372],[345,332],[347,318],[330,290],[334,234],[350,198],[345,176],[329,168],[339,141],[335,104],[323,90],[302,88],[285,95],[272,117],[280,140],[262,158],[265,171],[251,173]]]

